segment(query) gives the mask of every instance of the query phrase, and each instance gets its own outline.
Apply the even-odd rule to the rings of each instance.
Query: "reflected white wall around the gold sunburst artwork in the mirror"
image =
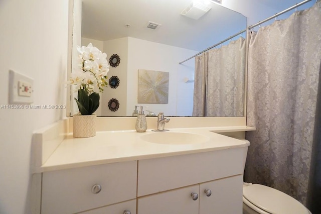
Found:
[[[193,109],[193,83],[185,83],[184,77],[194,79],[195,59],[180,65],[179,62],[193,56],[197,51],[128,38],[128,82],[127,82],[127,115],[131,115],[137,105],[138,69],[165,71],[170,73],[169,103],[139,105],[148,106],[156,115],[164,112],[165,116],[186,116],[177,112],[177,102],[186,106],[186,112]],[[146,112],[145,112],[146,113]],[[190,114],[192,115],[192,114]]]

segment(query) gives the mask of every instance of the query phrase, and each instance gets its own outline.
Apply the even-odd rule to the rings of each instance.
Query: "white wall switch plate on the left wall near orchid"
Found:
[[[9,71],[9,103],[30,104],[34,101],[34,80],[16,71]]]

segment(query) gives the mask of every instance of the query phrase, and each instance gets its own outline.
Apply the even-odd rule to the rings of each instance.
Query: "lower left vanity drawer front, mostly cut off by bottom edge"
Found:
[[[126,212],[127,211],[127,212]],[[136,200],[129,200],[122,203],[116,203],[97,209],[91,209],[79,214],[136,214]]]

